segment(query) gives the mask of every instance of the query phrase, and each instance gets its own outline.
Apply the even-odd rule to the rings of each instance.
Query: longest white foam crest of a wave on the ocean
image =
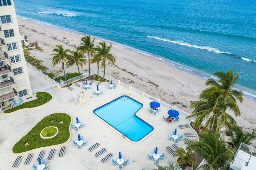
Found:
[[[172,41],[172,40],[169,40],[169,39],[164,39],[164,38],[160,38],[160,37],[156,37],[156,36],[147,36],[147,37],[162,40],[162,41],[167,41],[167,42],[174,43],[174,44],[184,45],[184,46],[187,46],[187,47],[193,47],[193,48],[197,48],[197,49],[204,49],[204,50],[211,51],[211,52],[214,52],[214,53],[230,54],[229,52],[220,51],[219,49],[216,49],[216,48],[213,48],[213,47],[197,46],[197,45],[192,45],[190,43],[184,43],[183,41]]]

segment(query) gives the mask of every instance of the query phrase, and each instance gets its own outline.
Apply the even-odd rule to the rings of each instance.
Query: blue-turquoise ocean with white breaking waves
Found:
[[[255,0],[14,0],[26,18],[124,45],[204,79],[228,68],[256,101]]]

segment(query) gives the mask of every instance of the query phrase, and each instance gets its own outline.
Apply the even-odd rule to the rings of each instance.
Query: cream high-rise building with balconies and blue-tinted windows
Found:
[[[0,108],[32,96],[13,0],[0,0]]]

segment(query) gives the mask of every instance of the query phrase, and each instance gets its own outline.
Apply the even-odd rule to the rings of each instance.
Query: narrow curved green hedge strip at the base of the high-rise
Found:
[[[11,109],[5,110],[4,113],[11,113],[13,111],[24,109],[24,108],[38,107],[43,104],[46,104],[52,99],[52,96],[46,92],[37,92],[36,97],[37,97],[36,100],[31,100],[29,102],[23,103],[20,106],[12,107]]]

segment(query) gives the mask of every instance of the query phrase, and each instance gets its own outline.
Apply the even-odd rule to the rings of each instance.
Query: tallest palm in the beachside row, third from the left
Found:
[[[78,47],[78,50],[82,51],[82,53],[87,53],[88,54],[88,65],[89,65],[89,78],[91,77],[90,74],[90,54],[94,54],[94,40],[91,41],[90,35],[85,35],[84,37],[81,38],[82,43],[80,43],[80,46]]]

